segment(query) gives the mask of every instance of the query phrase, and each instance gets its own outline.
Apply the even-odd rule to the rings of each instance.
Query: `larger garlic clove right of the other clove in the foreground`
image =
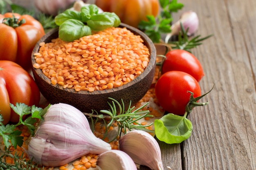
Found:
[[[164,170],[161,150],[153,136],[143,130],[132,130],[119,139],[119,150],[126,152],[135,163],[151,170]]]

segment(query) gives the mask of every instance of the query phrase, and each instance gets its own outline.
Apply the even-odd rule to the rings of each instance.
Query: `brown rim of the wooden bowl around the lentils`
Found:
[[[134,85],[136,82],[139,82],[141,79],[143,79],[144,77],[146,77],[146,75],[148,73],[150,73],[150,71],[155,67],[154,65],[156,64],[156,48],[154,43],[152,42],[152,40],[142,31],[140,31],[139,29],[132,27],[128,24],[124,24],[121,23],[119,25],[120,28],[126,28],[129,31],[131,31],[132,33],[136,34],[136,35],[140,35],[141,39],[144,41],[143,43],[148,47],[149,52],[150,52],[150,59],[148,62],[148,66],[146,66],[146,68],[144,69],[143,73],[141,73],[139,76],[137,76],[135,79],[133,79],[131,82],[124,84],[122,86],[119,87],[115,87],[115,88],[111,88],[111,89],[105,89],[105,90],[96,90],[96,91],[75,91],[74,88],[63,88],[63,86],[58,85],[58,84],[52,84],[51,80],[49,79],[49,77],[47,77],[40,68],[34,68],[33,64],[36,63],[35,59],[34,59],[34,53],[37,53],[39,48],[40,48],[40,43],[41,42],[45,42],[45,40],[52,35],[53,33],[56,33],[56,31],[58,31],[58,27],[54,28],[50,31],[48,31],[45,35],[43,35],[42,38],[40,38],[40,40],[36,43],[36,46],[33,49],[33,52],[31,54],[31,65],[32,65],[32,70],[33,73],[35,72],[39,77],[43,76],[43,78],[41,78],[44,82],[46,82],[47,84],[51,85],[54,88],[58,88],[60,90],[63,91],[67,91],[67,92],[71,92],[71,93],[77,93],[77,94],[82,94],[82,95],[99,95],[99,94],[107,94],[107,93],[112,93],[115,91],[121,91],[124,88],[128,88],[132,85]]]

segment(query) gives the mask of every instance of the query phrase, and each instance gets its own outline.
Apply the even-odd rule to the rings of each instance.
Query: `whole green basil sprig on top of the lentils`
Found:
[[[67,9],[58,14],[54,21],[59,26],[58,35],[63,41],[74,41],[83,36],[91,35],[92,31],[101,31],[121,23],[115,13],[98,13],[95,4],[81,7],[81,11]]]

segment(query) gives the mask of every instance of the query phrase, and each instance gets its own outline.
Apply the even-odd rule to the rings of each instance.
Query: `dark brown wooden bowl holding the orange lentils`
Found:
[[[58,84],[51,84],[51,80],[47,76],[45,76],[40,68],[36,69],[33,67],[33,64],[36,63],[34,59],[34,53],[38,52],[40,48],[40,42],[47,43],[51,42],[52,39],[58,38],[58,28],[49,31],[37,42],[31,55],[32,72],[40,92],[47,99],[48,102],[50,102],[51,104],[70,104],[78,108],[82,112],[87,113],[91,113],[92,109],[97,111],[108,110],[110,108],[108,102],[111,101],[110,99],[108,99],[109,97],[116,99],[118,102],[121,102],[121,99],[123,99],[125,106],[128,106],[130,101],[132,103],[132,106],[139,102],[139,100],[146,94],[146,92],[150,88],[153,77],[155,75],[156,49],[150,38],[148,38],[148,36],[145,35],[142,31],[139,31],[138,29],[131,27],[127,24],[120,24],[119,27],[126,27],[135,35],[141,36],[141,38],[144,40],[144,44],[148,47],[150,51],[150,60],[144,72],[131,82],[117,88],[102,91],[76,92],[73,88],[63,88],[63,86],[60,86]]]

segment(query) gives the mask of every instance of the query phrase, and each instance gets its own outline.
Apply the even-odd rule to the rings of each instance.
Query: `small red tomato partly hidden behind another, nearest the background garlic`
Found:
[[[203,68],[198,59],[185,50],[175,49],[166,54],[166,60],[162,66],[162,74],[175,70],[189,73],[198,82],[204,76]]]

